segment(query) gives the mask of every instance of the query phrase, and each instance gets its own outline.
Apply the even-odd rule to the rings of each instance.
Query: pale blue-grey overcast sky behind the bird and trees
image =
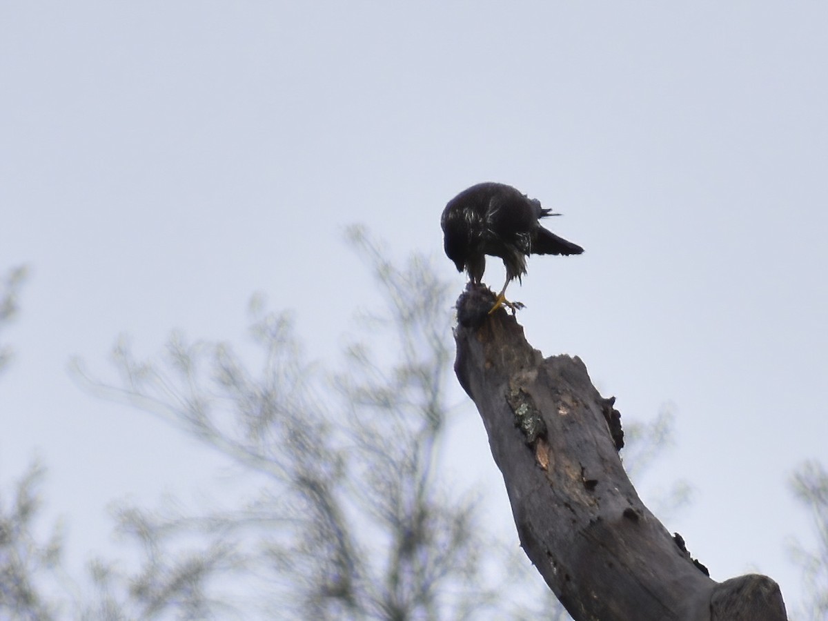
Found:
[[[220,494],[207,451],[81,391],[70,359],[106,375],[122,332],[243,342],[254,291],[330,359],[377,300],[344,227],[433,255],[459,294],[440,212],[503,181],[585,248],[510,288],[528,339],[579,355],[623,420],[675,404],[653,484],[696,493],[667,528],[791,607],[785,542],[812,538],[787,479],[828,461],[826,24],[821,2],[3,2],[0,269],[31,276],[2,484],[41,455],[76,564],[110,546],[113,499]],[[457,475],[513,530],[465,416]]]

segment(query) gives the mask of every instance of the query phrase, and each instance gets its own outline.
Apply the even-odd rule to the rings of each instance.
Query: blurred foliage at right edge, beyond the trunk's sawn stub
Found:
[[[791,542],[793,560],[802,567],[807,600],[798,619],[828,619],[828,471],[816,460],[802,464],[791,478],[797,500],[806,506],[816,533],[816,550],[809,551],[801,542]]]

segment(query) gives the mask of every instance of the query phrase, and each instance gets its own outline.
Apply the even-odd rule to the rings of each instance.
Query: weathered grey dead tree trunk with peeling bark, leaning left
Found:
[[[584,363],[544,359],[513,316],[488,314],[492,302],[481,286],[460,296],[455,372],[483,418],[523,550],[575,621],[786,619],[766,576],[710,580],[638,498],[619,460],[620,417]]]

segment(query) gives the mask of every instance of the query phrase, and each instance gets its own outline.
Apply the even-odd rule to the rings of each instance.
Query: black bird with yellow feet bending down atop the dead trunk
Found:
[[[472,185],[445,205],[440,220],[443,247],[457,271],[465,269],[471,282],[479,285],[487,254],[502,258],[506,266],[506,282],[489,313],[503,304],[513,311],[522,306],[506,301],[506,287],[515,277],[521,281],[530,254],[584,252],[578,244],[567,242],[538,224],[538,219],[550,215],[560,214],[543,209],[539,200],[503,183]]]

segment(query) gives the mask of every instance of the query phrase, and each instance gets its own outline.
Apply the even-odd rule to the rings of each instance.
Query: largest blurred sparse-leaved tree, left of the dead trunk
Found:
[[[258,486],[202,515],[123,507],[119,528],[144,560],[132,575],[94,566],[100,618],[515,619],[532,616],[526,599],[546,601],[537,576],[517,587],[525,562],[503,573],[517,546],[499,542],[475,498],[440,471],[453,378],[445,283],[426,258],[397,267],[360,229],[350,238],[385,306],[359,317],[334,371],[303,358],[290,315],[254,300],[258,365],[229,344],[176,334],[160,362],[122,342],[121,379],[86,380],[219,450]],[[179,556],[181,538],[201,550]]]

